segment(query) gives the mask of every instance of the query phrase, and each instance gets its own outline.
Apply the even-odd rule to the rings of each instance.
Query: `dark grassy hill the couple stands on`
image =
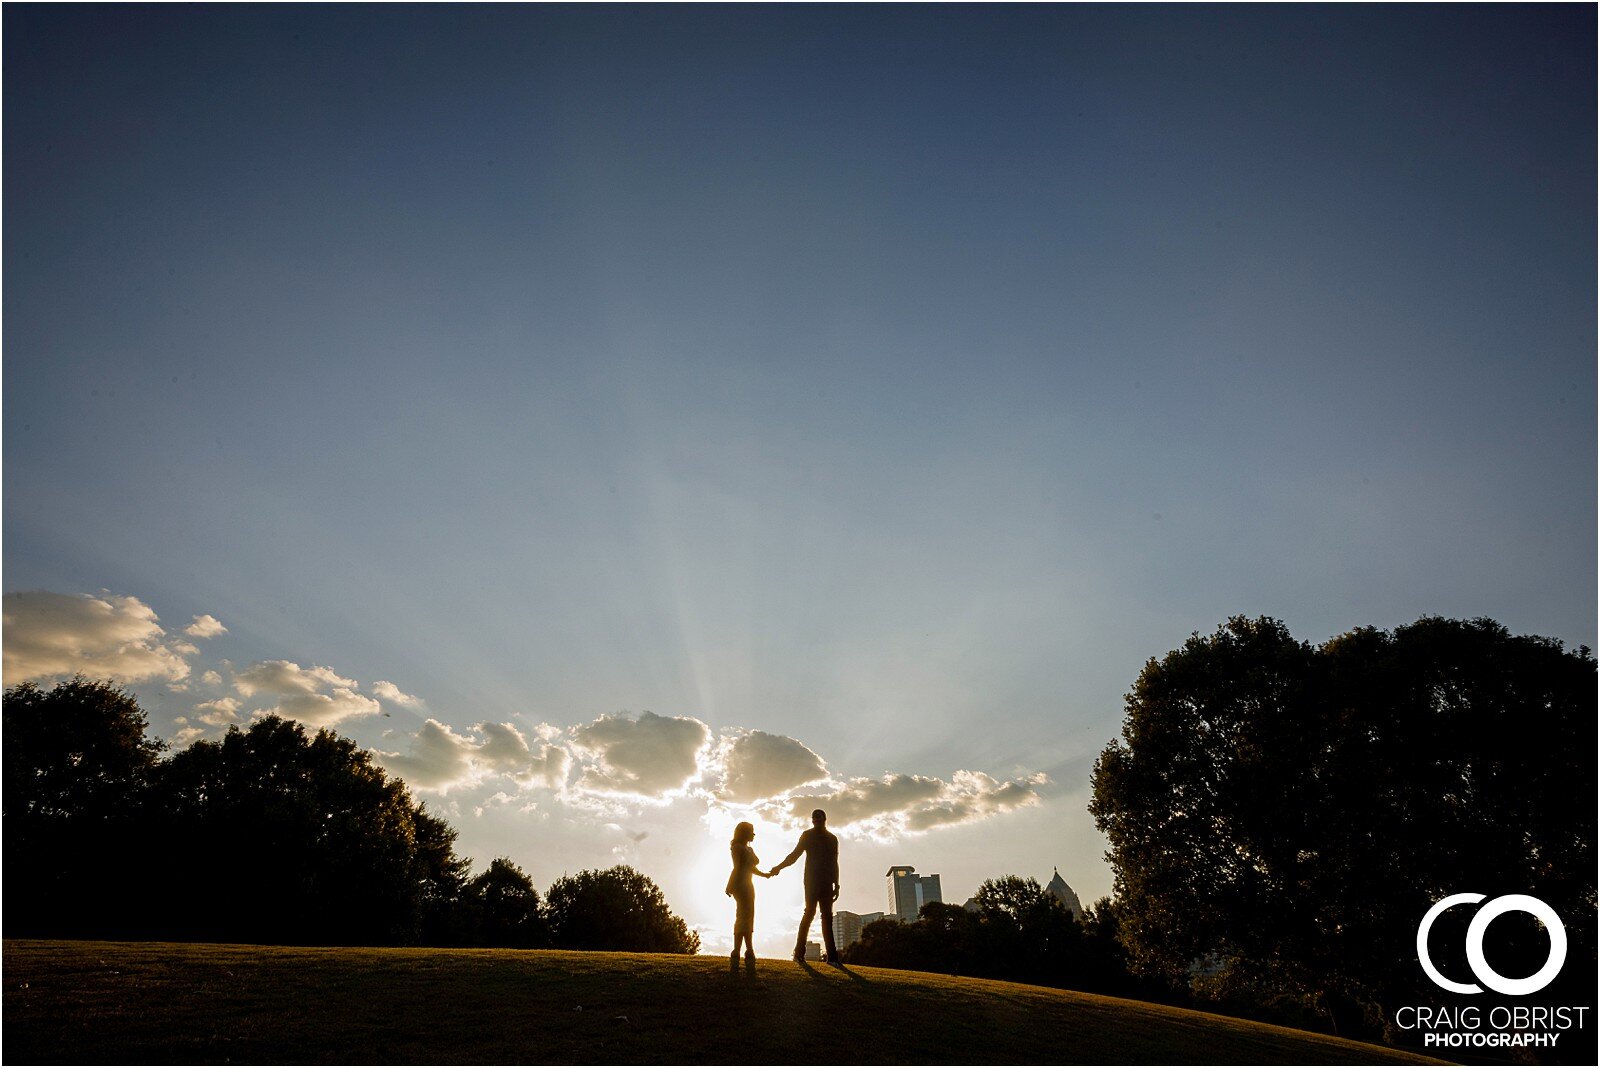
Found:
[[[1184,1009],[874,967],[6,940],[6,1063],[1378,1063]]]

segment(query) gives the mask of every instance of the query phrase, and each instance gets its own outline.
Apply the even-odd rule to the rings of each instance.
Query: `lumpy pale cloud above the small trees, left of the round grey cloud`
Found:
[[[414,790],[448,793],[461,787],[509,775],[517,785],[558,790],[566,783],[571,756],[560,745],[530,747],[509,723],[480,723],[483,735],[456,734],[438,719],[427,719],[411,735],[410,753],[378,751],[379,763]]]

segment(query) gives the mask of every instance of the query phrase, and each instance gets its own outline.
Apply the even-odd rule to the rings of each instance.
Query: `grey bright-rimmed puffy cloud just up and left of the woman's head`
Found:
[[[573,727],[571,739],[589,761],[578,782],[581,790],[662,799],[699,775],[710,729],[688,716],[645,711],[637,719],[600,716]]]

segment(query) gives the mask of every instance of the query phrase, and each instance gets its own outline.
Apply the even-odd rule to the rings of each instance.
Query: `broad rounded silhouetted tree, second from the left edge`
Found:
[[[187,937],[416,942],[459,876],[432,817],[418,851],[403,782],[355,742],[278,716],[190,745],[163,767],[162,798]]]

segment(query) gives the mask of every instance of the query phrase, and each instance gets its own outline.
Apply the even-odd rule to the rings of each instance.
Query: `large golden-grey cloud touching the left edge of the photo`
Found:
[[[165,646],[155,612],[136,596],[46,590],[3,598],[6,686],[83,673],[118,683],[178,681],[189,665]]]

